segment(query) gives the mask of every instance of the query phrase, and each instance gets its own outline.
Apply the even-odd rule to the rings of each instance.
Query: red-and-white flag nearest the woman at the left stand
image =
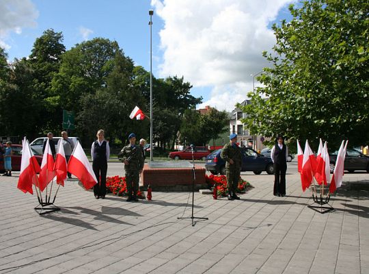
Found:
[[[90,189],[97,184],[95,173],[79,142],[70,155],[68,171],[81,181],[85,189]]]

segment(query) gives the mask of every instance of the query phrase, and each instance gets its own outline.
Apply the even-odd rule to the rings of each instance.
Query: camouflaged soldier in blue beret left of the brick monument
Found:
[[[126,186],[128,190],[127,201],[138,201],[137,191],[139,189],[139,174],[143,169],[143,158],[141,149],[135,145],[136,135],[131,133],[128,136],[129,144],[120,151],[124,162],[126,173]]]

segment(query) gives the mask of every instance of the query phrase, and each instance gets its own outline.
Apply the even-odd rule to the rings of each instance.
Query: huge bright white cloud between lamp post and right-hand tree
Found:
[[[252,90],[251,74],[268,66],[275,36],[269,23],[295,0],[152,0],[164,21],[160,76],[183,75],[194,87],[211,86],[202,105],[232,110]],[[257,86],[257,83],[256,83]]]

